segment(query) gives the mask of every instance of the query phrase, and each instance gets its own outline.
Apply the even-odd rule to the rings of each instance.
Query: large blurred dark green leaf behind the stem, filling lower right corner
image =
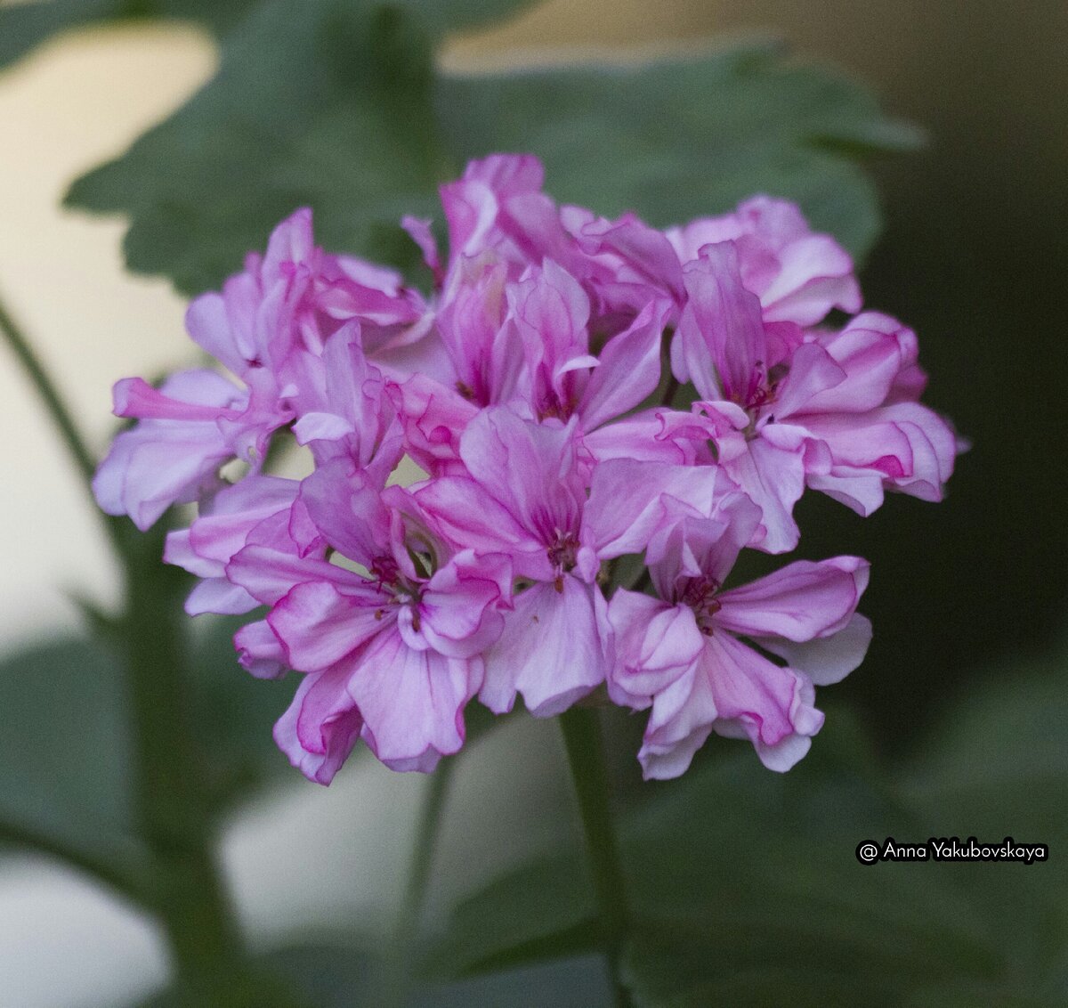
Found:
[[[864,866],[854,851],[969,835],[1058,850],[1065,684],[1063,663],[994,680],[896,775],[832,711],[787,775],[751,753],[713,753],[648,786],[653,796],[621,824],[632,903],[624,970],[637,1002],[1063,1004],[1063,865]],[[429,966],[464,975],[588,948],[596,931],[577,924],[592,913],[590,889],[567,881],[577,857],[546,855],[469,897]],[[532,902],[550,880],[551,898]]]

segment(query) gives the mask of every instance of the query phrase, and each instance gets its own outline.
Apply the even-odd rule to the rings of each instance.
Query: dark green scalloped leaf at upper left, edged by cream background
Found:
[[[67,201],[128,214],[130,265],[189,291],[302,204],[326,244],[387,251],[437,177],[429,84],[428,36],[399,9],[268,0],[223,41],[214,80]]]

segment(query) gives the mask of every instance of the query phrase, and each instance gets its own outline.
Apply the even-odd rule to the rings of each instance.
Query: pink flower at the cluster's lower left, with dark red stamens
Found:
[[[394,770],[433,770],[464,744],[480,655],[501,633],[508,561],[450,550],[405,491],[379,493],[343,461],[301,494],[331,549],[366,573],[253,544],[227,564],[231,580],[271,606],[266,627],[238,640],[249,664],[269,670],[280,650],[308,673],[274,738],[320,784],[360,738]]]

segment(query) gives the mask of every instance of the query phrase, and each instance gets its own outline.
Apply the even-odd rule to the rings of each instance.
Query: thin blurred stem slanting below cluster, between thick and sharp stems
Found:
[[[419,808],[415,842],[411,849],[408,879],[400,910],[386,957],[386,997],[390,1006],[404,1005],[411,990],[415,943],[419,939],[430,871],[441,835],[441,817],[452,781],[456,758],[442,760],[429,775]]]

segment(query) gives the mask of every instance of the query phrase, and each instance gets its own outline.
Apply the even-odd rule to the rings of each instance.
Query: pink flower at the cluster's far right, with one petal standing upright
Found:
[[[806,483],[862,514],[885,486],[941,496],[956,439],[934,413],[899,401],[922,388],[909,330],[871,313],[834,335],[767,323],[732,243],[704,246],[685,275],[672,365],[701,396],[720,464],[761,509],[753,545],[797,545],[794,505]]]

